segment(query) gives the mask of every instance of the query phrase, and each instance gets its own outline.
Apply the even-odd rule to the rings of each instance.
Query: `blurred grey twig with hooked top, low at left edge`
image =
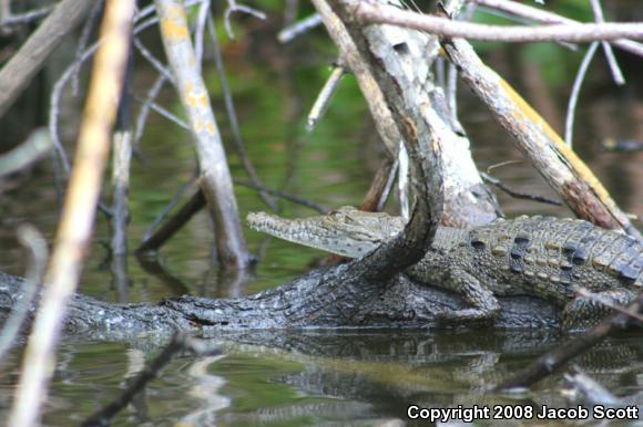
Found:
[[[47,241],[33,226],[23,225],[18,228],[18,240],[28,250],[27,280],[22,283],[22,292],[18,302],[13,304],[11,314],[6,320],[0,331],[0,361],[4,358],[11,344],[18,336],[22,324],[29,315],[29,311],[35,298],[38,288],[42,283],[47,258],[49,257]]]

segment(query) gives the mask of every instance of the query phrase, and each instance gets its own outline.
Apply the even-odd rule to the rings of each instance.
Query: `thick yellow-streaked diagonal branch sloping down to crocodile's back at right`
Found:
[[[641,236],[590,168],[522,96],[482,63],[466,40],[442,40],[441,44],[462,80],[576,216],[608,229]]]

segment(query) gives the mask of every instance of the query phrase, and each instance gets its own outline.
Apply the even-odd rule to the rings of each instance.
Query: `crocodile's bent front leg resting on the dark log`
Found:
[[[451,268],[440,288],[457,292],[473,308],[436,313],[438,323],[491,322],[500,311],[500,304],[490,289],[470,273]]]

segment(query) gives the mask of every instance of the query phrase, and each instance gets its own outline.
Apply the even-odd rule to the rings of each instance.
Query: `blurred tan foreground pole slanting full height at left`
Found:
[[[48,285],[29,336],[23,373],[9,415],[10,426],[38,425],[42,404],[47,402],[67,303],[80,280],[83,256],[93,231],[110,146],[110,129],[115,121],[127,62],[134,7],[134,2],[129,1],[106,2],[101,25],[104,41],[94,59],[78,137],[76,160],[44,280]]]

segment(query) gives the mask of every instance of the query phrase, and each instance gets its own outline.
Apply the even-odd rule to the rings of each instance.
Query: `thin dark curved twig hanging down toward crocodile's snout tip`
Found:
[[[223,94],[223,102],[225,104],[225,112],[227,114],[229,121],[229,128],[232,131],[232,137],[234,142],[234,146],[236,148],[236,153],[242,160],[242,165],[244,170],[246,171],[248,178],[258,187],[264,187],[262,179],[259,178],[255,167],[253,166],[247,152],[246,147],[241,134],[241,127],[238,124],[238,119],[236,116],[236,110],[234,107],[234,101],[232,97],[232,91],[229,90],[229,85],[227,83],[227,76],[225,73],[225,64],[223,62],[223,56],[221,54],[221,46],[218,45],[218,40],[216,39],[216,31],[214,28],[214,19],[212,15],[207,19],[207,30],[210,32],[210,40],[212,42],[212,53],[214,55],[214,65],[216,66],[216,73],[218,75],[218,81],[221,83],[221,92]],[[268,207],[275,211],[279,211],[279,207],[275,202],[275,200],[268,196],[267,192],[261,191],[259,197],[268,205]]]

